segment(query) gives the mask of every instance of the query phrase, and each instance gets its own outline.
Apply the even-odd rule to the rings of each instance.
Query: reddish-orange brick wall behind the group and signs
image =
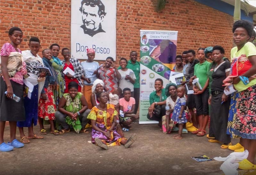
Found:
[[[8,30],[23,30],[21,50],[29,38],[41,40],[41,50],[52,43],[70,48],[71,0],[1,0],[0,46],[9,41]],[[140,50],[140,29],[178,30],[177,54],[183,50],[222,45],[226,55],[233,46],[233,17],[193,0],[168,0],[162,13],[151,0],[117,0],[116,55],[128,58]]]

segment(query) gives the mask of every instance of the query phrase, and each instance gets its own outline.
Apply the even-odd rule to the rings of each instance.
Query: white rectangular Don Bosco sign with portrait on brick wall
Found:
[[[116,60],[116,0],[71,0],[71,57]]]

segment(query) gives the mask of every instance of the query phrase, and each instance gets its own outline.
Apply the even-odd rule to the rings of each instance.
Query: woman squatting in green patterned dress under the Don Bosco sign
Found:
[[[55,118],[63,127],[59,134],[70,132],[70,125],[75,132],[89,133],[85,126],[88,123],[87,116],[91,112],[88,109],[86,99],[81,92],[78,92],[77,82],[68,84],[68,93],[63,94],[59,102],[59,111],[55,112]]]

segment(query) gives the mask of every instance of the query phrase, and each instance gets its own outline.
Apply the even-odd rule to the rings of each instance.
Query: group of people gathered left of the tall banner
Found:
[[[87,49],[88,59],[84,62],[70,58],[68,48],[62,48],[64,60],[61,61],[58,44],[44,49],[41,58],[38,37],[31,37],[29,50],[21,52],[18,45],[22,37],[22,30],[12,27],[11,43],[5,43],[0,53],[0,151],[21,148],[31,139],[43,139],[42,135],[48,134],[44,128],[46,123],[55,136],[70,129],[89,133],[86,125],[91,125],[92,142],[104,149],[120,144],[128,148],[136,140],[135,134],[125,139],[123,131],[128,131],[131,123],[138,119],[140,64],[137,52],[131,52],[129,61],[120,59],[119,68],[113,64],[112,57],[107,57],[105,65],[99,66],[93,61],[92,48]],[[10,125],[8,143],[4,143],[6,121]],[[37,123],[40,135],[33,130]],[[16,139],[17,126],[20,141]],[[28,127],[27,136],[24,127]]]

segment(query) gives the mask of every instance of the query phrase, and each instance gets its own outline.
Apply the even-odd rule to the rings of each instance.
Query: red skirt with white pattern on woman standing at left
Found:
[[[38,116],[45,120],[55,120],[56,105],[52,87],[44,88],[47,100],[39,99]]]

